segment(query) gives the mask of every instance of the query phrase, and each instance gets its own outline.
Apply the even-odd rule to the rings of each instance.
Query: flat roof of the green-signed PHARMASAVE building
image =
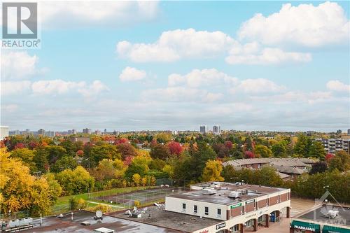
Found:
[[[339,215],[335,218],[325,217],[325,214],[327,214],[329,210],[339,211]],[[313,211],[309,211],[307,213],[305,212],[300,213],[300,215],[296,216],[295,218],[303,218],[303,219],[315,220],[323,223],[349,226],[350,225],[350,207],[321,204]]]

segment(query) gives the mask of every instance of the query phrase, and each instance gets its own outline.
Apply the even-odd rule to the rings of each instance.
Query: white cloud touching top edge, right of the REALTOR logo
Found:
[[[153,20],[159,11],[158,1],[41,1],[38,10],[45,28],[119,27]]]

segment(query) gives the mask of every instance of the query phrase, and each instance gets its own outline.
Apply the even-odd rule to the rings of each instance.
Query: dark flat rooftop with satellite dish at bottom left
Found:
[[[108,228],[115,232],[163,232],[172,233],[179,232],[176,230],[170,230],[165,227],[157,227],[154,225],[147,225],[144,223],[138,223],[130,220],[124,220],[113,216],[103,216],[101,222],[94,220],[95,213],[90,211],[78,211],[73,213],[73,220],[71,220],[71,213],[67,213],[63,218],[49,217],[43,218],[43,224],[40,226],[40,220],[34,220],[34,227],[21,232],[94,232],[97,228]],[[88,221],[90,225],[81,225],[81,222]],[[97,233],[97,232],[96,232]]]

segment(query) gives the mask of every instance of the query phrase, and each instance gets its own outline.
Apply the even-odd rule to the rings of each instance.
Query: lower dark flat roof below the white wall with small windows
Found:
[[[118,218],[137,221],[139,223],[148,223],[158,227],[169,227],[181,232],[194,232],[223,222],[222,220],[200,218],[199,216],[189,216],[184,213],[165,211],[164,206],[149,206],[146,213],[143,213],[141,218],[131,218],[125,215],[125,213],[116,213],[116,216]]]

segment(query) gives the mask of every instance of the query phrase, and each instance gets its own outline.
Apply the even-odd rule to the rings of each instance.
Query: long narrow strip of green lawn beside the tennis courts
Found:
[[[155,188],[155,187],[113,188],[111,190],[103,190],[103,191],[90,192],[90,193],[86,192],[86,193],[82,193],[80,195],[64,196],[64,197],[59,197],[57,199],[56,205],[69,204],[69,199],[71,197],[76,197],[77,199],[82,198],[84,200],[90,200],[91,197],[101,197],[101,196],[116,195],[116,194],[125,193],[125,192],[132,192],[132,191],[136,191],[136,190],[146,190],[146,189],[149,189],[149,188]]]

